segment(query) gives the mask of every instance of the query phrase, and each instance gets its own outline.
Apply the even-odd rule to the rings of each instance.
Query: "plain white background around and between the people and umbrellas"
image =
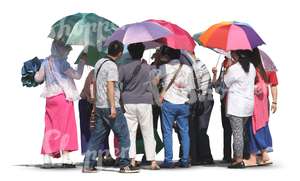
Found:
[[[101,171],[82,174],[80,169],[41,170],[19,167],[20,164],[42,163],[40,155],[44,130],[45,100],[40,98],[42,86],[22,87],[22,63],[34,56],[46,57],[50,53],[51,39],[47,38],[51,25],[58,19],[77,12],[94,12],[119,26],[146,19],[164,19],[178,24],[191,34],[200,32],[220,21],[249,23],[261,35],[267,45],[265,50],[276,63],[279,72],[278,112],[271,115],[270,129],[274,142],[271,157],[274,165],[245,170],[229,170],[224,167],[192,167],[189,169],[147,171],[140,174],[122,175]],[[0,139],[1,177],[7,179],[174,179],[182,180],[228,178],[254,180],[296,176],[299,169],[299,5],[297,1],[163,1],[163,0],[95,0],[95,1],[1,1],[0,6]],[[74,62],[80,52],[75,47],[69,56]],[[197,47],[196,55],[209,69],[217,62],[214,52]],[[150,54],[145,54],[149,59]],[[76,81],[82,89],[87,72]],[[75,110],[78,120],[77,104]],[[209,135],[214,159],[222,159],[222,125],[219,97],[215,95]],[[79,124],[77,124],[79,125]],[[78,134],[79,135],[79,134]],[[177,139],[174,139],[177,159]],[[163,152],[158,159],[163,159]],[[75,161],[82,161],[80,152],[72,153]],[[151,177],[149,177],[151,176]],[[1,178],[3,180],[3,178]]]

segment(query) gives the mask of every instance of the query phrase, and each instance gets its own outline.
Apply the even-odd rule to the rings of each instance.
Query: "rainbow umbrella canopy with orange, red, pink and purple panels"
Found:
[[[205,47],[219,48],[225,51],[252,50],[265,44],[250,25],[236,21],[215,24],[196,39]]]

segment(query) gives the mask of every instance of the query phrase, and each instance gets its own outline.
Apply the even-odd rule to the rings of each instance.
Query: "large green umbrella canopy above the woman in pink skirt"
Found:
[[[116,24],[94,13],[77,13],[54,23],[49,37],[69,45],[101,48],[116,29]]]

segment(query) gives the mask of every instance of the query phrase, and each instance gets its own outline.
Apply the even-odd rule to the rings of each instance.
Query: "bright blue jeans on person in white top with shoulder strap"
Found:
[[[162,131],[165,145],[165,164],[171,164],[173,159],[172,131],[176,120],[182,143],[183,164],[189,163],[190,136],[189,136],[189,115],[190,106],[188,104],[172,104],[164,101],[162,104]]]

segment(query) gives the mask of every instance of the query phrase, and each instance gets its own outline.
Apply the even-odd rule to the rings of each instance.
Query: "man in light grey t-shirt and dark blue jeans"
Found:
[[[82,172],[96,172],[99,145],[103,143],[110,129],[120,140],[120,172],[134,173],[138,169],[130,164],[128,150],[130,139],[126,118],[120,108],[120,91],[117,87],[118,68],[115,61],[122,56],[123,44],[113,41],[108,46],[108,55],[95,65],[96,79],[96,126],[91,133],[85,154]]]

